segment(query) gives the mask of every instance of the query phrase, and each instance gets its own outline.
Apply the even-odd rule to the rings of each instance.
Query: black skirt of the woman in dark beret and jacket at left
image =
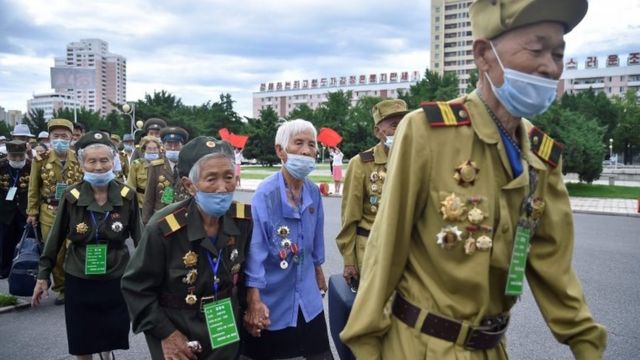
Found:
[[[129,349],[129,314],[120,278],[87,280],[65,273],[69,354]]]

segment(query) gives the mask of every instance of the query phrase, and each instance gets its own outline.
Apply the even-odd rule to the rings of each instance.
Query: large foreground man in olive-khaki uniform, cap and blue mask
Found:
[[[572,268],[562,145],[526,120],[556,98],[564,34],[587,6],[472,3],[477,90],[423,103],[395,135],[341,334],[357,358],[506,359],[509,312],[525,279],[555,338],[576,359],[602,358],[607,333]]]

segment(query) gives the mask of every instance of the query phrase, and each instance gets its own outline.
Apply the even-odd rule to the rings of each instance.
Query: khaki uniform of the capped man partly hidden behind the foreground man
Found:
[[[342,229],[336,238],[344,265],[362,268],[369,231],[376,219],[387,174],[383,144],[354,156],[344,181]]]

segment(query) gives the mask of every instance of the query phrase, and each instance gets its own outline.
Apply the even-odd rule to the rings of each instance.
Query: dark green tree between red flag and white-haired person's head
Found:
[[[262,165],[271,166],[280,160],[274,143],[278,131],[278,114],[271,107],[260,110],[260,118],[247,118],[249,141],[243,151],[245,158],[255,158]]]

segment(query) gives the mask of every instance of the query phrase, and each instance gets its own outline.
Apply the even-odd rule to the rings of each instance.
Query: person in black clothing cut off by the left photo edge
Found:
[[[9,276],[16,245],[27,221],[27,193],[31,160],[27,144],[6,143],[7,157],[0,160],[0,279]]]

